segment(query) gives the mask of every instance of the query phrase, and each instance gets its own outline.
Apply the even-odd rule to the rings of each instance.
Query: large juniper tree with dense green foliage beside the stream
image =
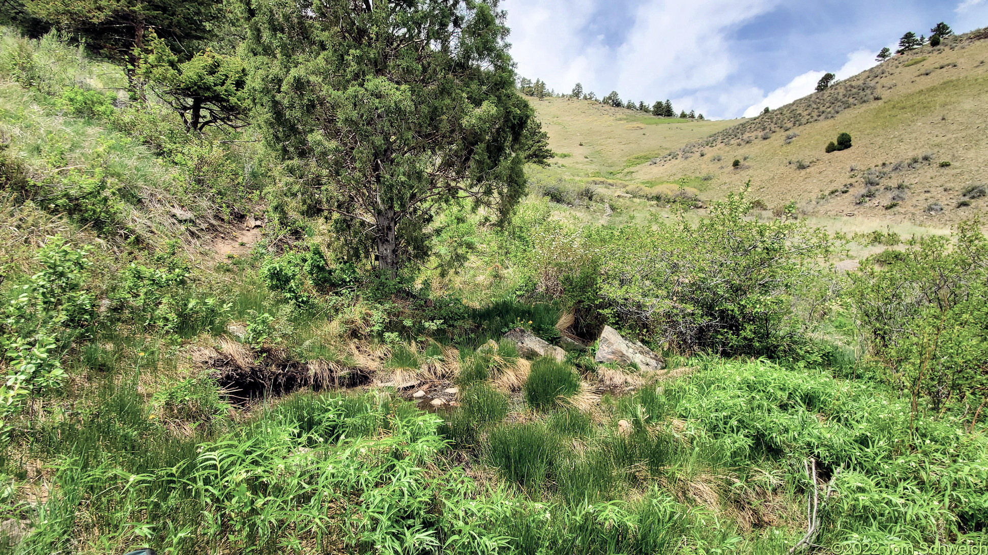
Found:
[[[253,121],[340,244],[393,278],[448,206],[510,217],[546,150],[497,0],[245,1]]]

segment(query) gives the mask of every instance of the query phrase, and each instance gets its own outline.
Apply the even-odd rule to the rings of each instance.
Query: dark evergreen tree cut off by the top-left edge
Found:
[[[197,41],[210,38],[209,26],[222,17],[222,0],[31,0],[25,6],[32,17],[84,40],[94,56],[123,65],[131,92],[151,31],[174,52],[197,51]]]

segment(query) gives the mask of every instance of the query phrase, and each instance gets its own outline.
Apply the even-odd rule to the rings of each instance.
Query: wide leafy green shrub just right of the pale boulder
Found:
[[[745,194],[732,194],[696,224],[659,220],[617,231],[601,271],[602,312],[686,353],[774,356],[801,341],[792,295],[819,276],[831,240],[791,218],[750,219],[751,207]]]

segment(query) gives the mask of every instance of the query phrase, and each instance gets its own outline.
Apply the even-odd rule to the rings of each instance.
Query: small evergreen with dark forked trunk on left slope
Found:
[[[235,56],[206,49],[180,62],[168,44],[151,32],[137,74],[179,113],[190,131],[201,131],[206,125],[236,128],[246,123],[247,68]]]

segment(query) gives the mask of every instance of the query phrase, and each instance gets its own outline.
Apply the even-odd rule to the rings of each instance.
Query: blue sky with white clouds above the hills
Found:
[[[988,26],[988,0],[502,0],[519,73],[556,91],[752,116],[873,65],[906,31]]]

